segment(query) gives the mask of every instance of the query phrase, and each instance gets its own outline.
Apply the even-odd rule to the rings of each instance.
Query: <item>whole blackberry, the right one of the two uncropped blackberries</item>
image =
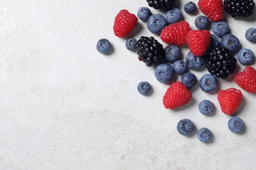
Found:
[[[236,58],[228,48],[217,47],[207,54],[205,66],[211,75],[227,78],[236,69]]]

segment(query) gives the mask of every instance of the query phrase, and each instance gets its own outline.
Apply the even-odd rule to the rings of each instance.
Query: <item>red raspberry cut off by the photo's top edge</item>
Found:
[[[198,7],[212,22],[220,22],[224,18],[222,0],[199,0]]]

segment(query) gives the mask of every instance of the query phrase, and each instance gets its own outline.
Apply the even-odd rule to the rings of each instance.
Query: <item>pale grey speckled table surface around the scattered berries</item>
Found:
[[[201,13],[185,14],[186,2],[179,7],[195,29]],[[0,2],[0,169],[256,169],[255,95],[242,90],[236,115],[246,130],[240,135],[229,131],[230,116],[221,112],[217,93],[202,92],[198,85],[188,105],[165,109],[161,100],[169,85],[158,82],[154,69],[112,31],[119,10],[136,14],[142,6],[146,1]],[[256,15],[226,21],[242,47],[256,54],[255,44],[244,38],[247,28],[256,27]],[[139,20],[129,37],[142,35],[152,33]],[[96,51],[100,38],[110,40],[112,54]],[[186,53],[182,48],[183,59]],[[191,72],[198,80],[207,73]],[[142,80],[152,85],[148,96],[137,92]],[[239,88],[232,78],[219,84]],[[198,111],[202,99],[213,101],[213,116]],[[209,128],[213,141],[177,133],[182,118],[196,129]]]

